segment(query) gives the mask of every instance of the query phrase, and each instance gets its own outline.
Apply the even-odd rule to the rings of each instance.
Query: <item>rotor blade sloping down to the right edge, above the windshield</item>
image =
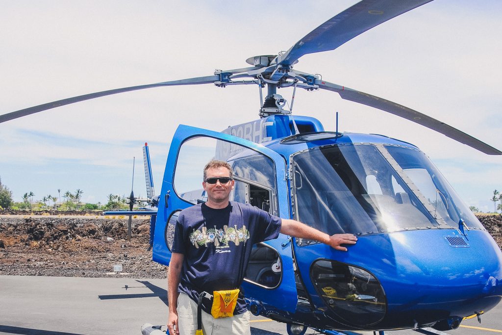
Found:
[[[464,132],[459,131],[456,128],[453,128],[445,124],[444,122],[433,119],[425,114],[419,113],[418,111],[405,107],[399,103],[320,79],[316,79],[315,84],[319,85],[319,88],[340,94],[342,99],[359,102],[367,106],[387,111],[388,113],[397,115],[398,117],[413,121],[419,125],[425,126],[438,133],[441,133],[455,141],[477,149],[482,153],[488,155],[502,155],[502,151],[495,149],[492,146],[489,146],[486,143],[481,142],[478,139],[465,134]]]

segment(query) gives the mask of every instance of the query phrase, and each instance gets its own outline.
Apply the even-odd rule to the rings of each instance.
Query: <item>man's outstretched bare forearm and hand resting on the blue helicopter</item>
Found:
[[[315,228],[302,224],[302,222],[285,218],[282,219],[281,233],[302,239],[316,240],[340,251],[347,251],[347,248],[342,247],[342,244],[355,244],[357,241],[357,237],[352,234],[329,236]]]

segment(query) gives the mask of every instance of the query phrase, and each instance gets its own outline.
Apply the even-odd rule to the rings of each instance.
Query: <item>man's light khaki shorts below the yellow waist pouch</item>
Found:
[[[197,303],[185,293],[178,296],[178,327],[180,335],[195,335],[197,330]],[[249,320],[251,314],[245,311],[231,317],[213,318],[211,314],[202,311],[202,331],[204,335],[239,334],[250,335]]]

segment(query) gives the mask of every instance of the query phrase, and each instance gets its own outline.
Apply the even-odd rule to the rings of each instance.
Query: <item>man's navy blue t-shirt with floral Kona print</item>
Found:
[[[235,201],[222,209],[202,203],[182,210],[171,248],[185,256],[178,291],[197,301],[202,291],[239,288],[253,245],[277,238],[281,223],[275,215]],[[239,295],[234,314],[245,311]]]

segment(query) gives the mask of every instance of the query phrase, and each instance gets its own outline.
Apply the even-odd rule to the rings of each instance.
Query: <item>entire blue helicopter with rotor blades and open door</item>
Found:
[[[486,287],[485,276],[502,279],[502,255],[491,237],[416,146],[381,135],[326,132],[318,120],[294,116],[294,98],[288,109],[277,93],[279,86],[334,91],[484,153],[502,154],[415,110],[296,69],[301,56],[336,49],[338,43],[424,3],[362,1],[288,51],[248,58],[246,68],[77,96],[2,115],[0,122],[135,89],[259,86],[261,119],[221,133],[180,126],[174,134],[158,197],[154,260],[169,264],[169,232],[176,214],[204,201],[190,180],[192,170],[201,170],[194,167],[194,157],[202,161],[202,155],[208,155],[228,161],[234,169],[233,199],[320,225],[315,227],[332,234],[354,233],[359,239],[343,255],[287,236],[257,245],[243,284],[253,313],[286,322],[288,331],[298,334],[306,327],[324,333],[454,329],[464,317],[479,318],[500,301],[500,285]],[[332,39],[330,29],[336,32],[337,27],[346,34],[334,33]],[[319,46],[323,43],[326,50]]]

